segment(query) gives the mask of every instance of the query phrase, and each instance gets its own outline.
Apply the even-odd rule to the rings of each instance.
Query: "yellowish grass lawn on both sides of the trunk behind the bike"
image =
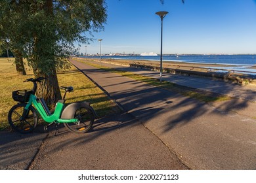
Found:
[[[7,122],[8,112],[16,104],[16,101],[12,100],[12,91],[33,88],[32,82],[23,82],[27,78],[34,77],[30,68],[26,68],[27,75],[18,75],[15,65],[12,65],[13,61],[14,59],[0,58],[0,130],[9,129]],[[66,103],[88,101],[95,108],[98,117],[114,114],[119,111],[116,103],[110,100],[102,90],[96,87],[89,78],[74,66],[68,71],[58,72],[58,83],[60,86],[74,87],[73,93],[67,93]]]

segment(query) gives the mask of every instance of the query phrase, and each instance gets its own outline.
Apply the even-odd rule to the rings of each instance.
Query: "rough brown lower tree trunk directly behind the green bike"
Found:
[[[37,87],[37,97],[42,97],[49,108],[54,108],[56,102],[61,99],[60,88],[58,87],[58,78],[56,71],[46,75],[45,73],[37,73],[36,77],[45,77]]]

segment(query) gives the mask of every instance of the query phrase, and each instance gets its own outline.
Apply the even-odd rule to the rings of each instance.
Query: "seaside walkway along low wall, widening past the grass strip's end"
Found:
[[[95,62],[95,64],[99,64]],[[128,71],[131,73],[148,76],[150,78],[160,78],[160,73],[156,71],[148,71],[145,69],[137,69],[133,67],[113,65],[102,63],[103,66]],[[219,101],[211,103],[219,110],[232,111],[244,116],[256,118],[256,86],[240,85],[214,78],[204,78],[200,76],[183,76],[163,73],[163,80],[167,80],[174,84],[186,86],[189,88],[199,89],[205,92],[219,93],[232,97],[229,101]]]

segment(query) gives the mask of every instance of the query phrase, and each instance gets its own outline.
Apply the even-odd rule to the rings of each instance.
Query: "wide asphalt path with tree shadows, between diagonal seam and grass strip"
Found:
[[[191,169],[256,169],[256,121],[72,61]]]

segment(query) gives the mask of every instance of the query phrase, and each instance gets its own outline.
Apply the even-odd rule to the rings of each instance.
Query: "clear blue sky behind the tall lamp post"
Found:
[[[79,52],[256,54],[256,0],[106,0],[108,19]],[[85,45],[87,47],[85,48]]]

